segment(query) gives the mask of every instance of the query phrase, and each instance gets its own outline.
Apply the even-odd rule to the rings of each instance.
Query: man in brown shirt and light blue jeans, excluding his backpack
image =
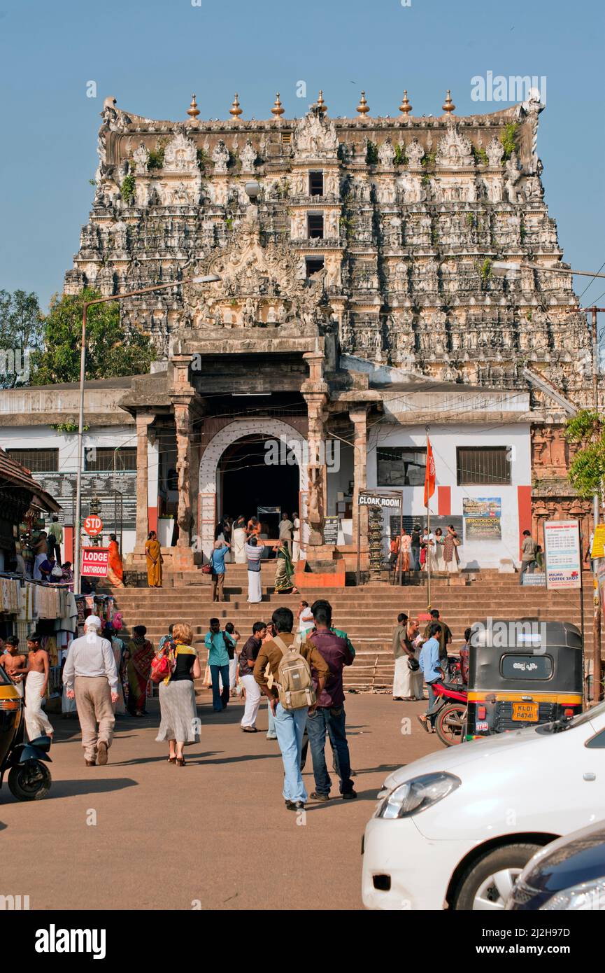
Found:
[[[277,637],[284,643],[286,649],[289,649],[295,641],[295,636],[292,634],[294,615],[290,608],[276,608],[271,622],[277,630]],[[303,659],[315,672],[316,692],[319,694],[330,675],[330,669],[311,642],[303,642],[299,650]],[[275,718],[277,743],[284,765],[283,796],[286,808],[288,811],[303,811],[307,795],[301,774],[301,747],[307,712],[312,712],[315,705],[303,706],[300,709],[285,709],[279,702],[276,683],[279,678],[279,664],[283,657],[283,652],[274,639],[267,639],[267,642],[263,642],[254,664],[254,678],[261,687],[261,692],[268,697]],[[267,665],[269,676],[265,674]]]

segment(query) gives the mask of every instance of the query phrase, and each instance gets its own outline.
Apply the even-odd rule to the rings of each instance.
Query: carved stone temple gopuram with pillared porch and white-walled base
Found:
[[[219,517],[296,509],[306,559],[350,566],[358,530],[367,549],[360,490],[403,489],[406,523],[424,517],[427,427],[433,523],[461,530],[462,566],[517,562],[520,532],[540,537],[552,517],[584,519],[587,535],[561,430],[591,401],[591,338],[571,274],[552,272],[569,265],[544,199],[543,108],[530,95],[462,118],[448,91],[442,114],[418,118],[406,92],[397,117],[373,117],[362,93],[354,117],[331,118],[320,92],[302,118],[277,95],[248,120],[235,95],[219,121],[194,96],[170,122],[105,100],[64,290],[174,282],[120,302],[158,361],[107,379],[87,419],[90,443],[110,426],[113,447],[136,446],[133,563],[158,519],[175,520],[166,557],[181,570],[209,553]],[[42,436],[20,395],[13,412]],[[18,423],[3,423],[15,447]],[[267,441],[295,459],[267,464]],[[482,536],[485,501],[499,523]],[[387,539],[395,526],[385,515]]]

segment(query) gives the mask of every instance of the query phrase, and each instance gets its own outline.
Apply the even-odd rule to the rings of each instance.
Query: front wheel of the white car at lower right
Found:
[[[541,845],[507,845],[488,851],[462,876],[452,909],[497,911],[504,909],[513,885]]]

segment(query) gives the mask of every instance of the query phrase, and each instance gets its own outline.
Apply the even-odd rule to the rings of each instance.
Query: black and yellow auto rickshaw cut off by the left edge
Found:
[[[51,788],[50,737],[23,741],[23,701],[18,689],[0,666],[0,787],[7,770],[9,788],[18,801],[40,800]]]

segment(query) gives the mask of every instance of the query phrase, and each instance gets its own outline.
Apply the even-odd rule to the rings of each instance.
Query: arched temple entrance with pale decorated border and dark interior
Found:
[[[267,463],[267,443],[273,458],[289,454],[290,462]],[[294,426],[271,418],[233,421],[213,436],[199,464],[198,533],[206,556],[218,517],[256,516],[259,506],[281,507],[289,514],[298,509],[306,467],[292,461],[292,448],[303,455],[303,444]],[[275,523],[270,515],[265,520],[270,527]]]

